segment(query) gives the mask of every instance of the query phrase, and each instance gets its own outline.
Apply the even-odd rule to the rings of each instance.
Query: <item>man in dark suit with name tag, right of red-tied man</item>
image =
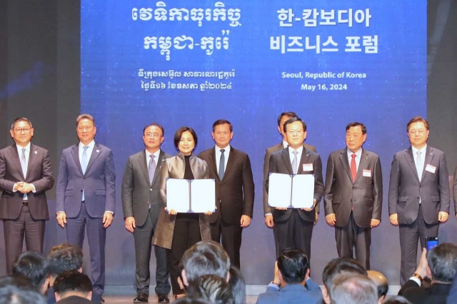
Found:
[[[449,216],[449,178],[442,151],[427,146],[428,122],[416,116],[406,131],[411,147],[393,156],[388,189],[388,213],[400,226],[401,278],[404,285],[416,269],[417,241],[437,236],[439,223]]]

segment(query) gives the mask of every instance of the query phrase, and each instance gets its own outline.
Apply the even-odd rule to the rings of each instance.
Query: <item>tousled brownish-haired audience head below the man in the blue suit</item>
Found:
[[[67,271],[82,272],[83,253],[76,245],[56,245],[48,254],[48,273],[52,278]],[[51,282],[53,283],[53,282]]]

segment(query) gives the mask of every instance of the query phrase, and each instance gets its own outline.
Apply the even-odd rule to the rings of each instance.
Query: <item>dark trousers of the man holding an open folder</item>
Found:
[[[298,211],[293,210],[286,221],[274,223],[278,235],[278,253],[289,247],[300,248],[311,260],[311,237],[313,235],[313,222],[304,221]],[[276,257],[278,258],[278,257]]]

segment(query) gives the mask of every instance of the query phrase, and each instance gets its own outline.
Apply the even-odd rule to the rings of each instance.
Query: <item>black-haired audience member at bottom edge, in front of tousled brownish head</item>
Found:
[[[79,271],[69,271],[54,280],[54,295],[57,303],[85,304],[91,302],[92,283],[87,275]]]

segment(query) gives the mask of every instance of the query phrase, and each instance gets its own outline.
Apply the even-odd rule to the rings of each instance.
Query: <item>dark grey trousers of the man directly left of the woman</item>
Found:
[[[148,212],[143,226],[136,226],[134,230],[135,260],[136,260],[136,293],[149,295],[149,260],[151,259],[152,237],[156,231],[151,211]],[[170,293],[169,272],[166,267],[166,249],[154,246],[156,254],[156,293]]]

